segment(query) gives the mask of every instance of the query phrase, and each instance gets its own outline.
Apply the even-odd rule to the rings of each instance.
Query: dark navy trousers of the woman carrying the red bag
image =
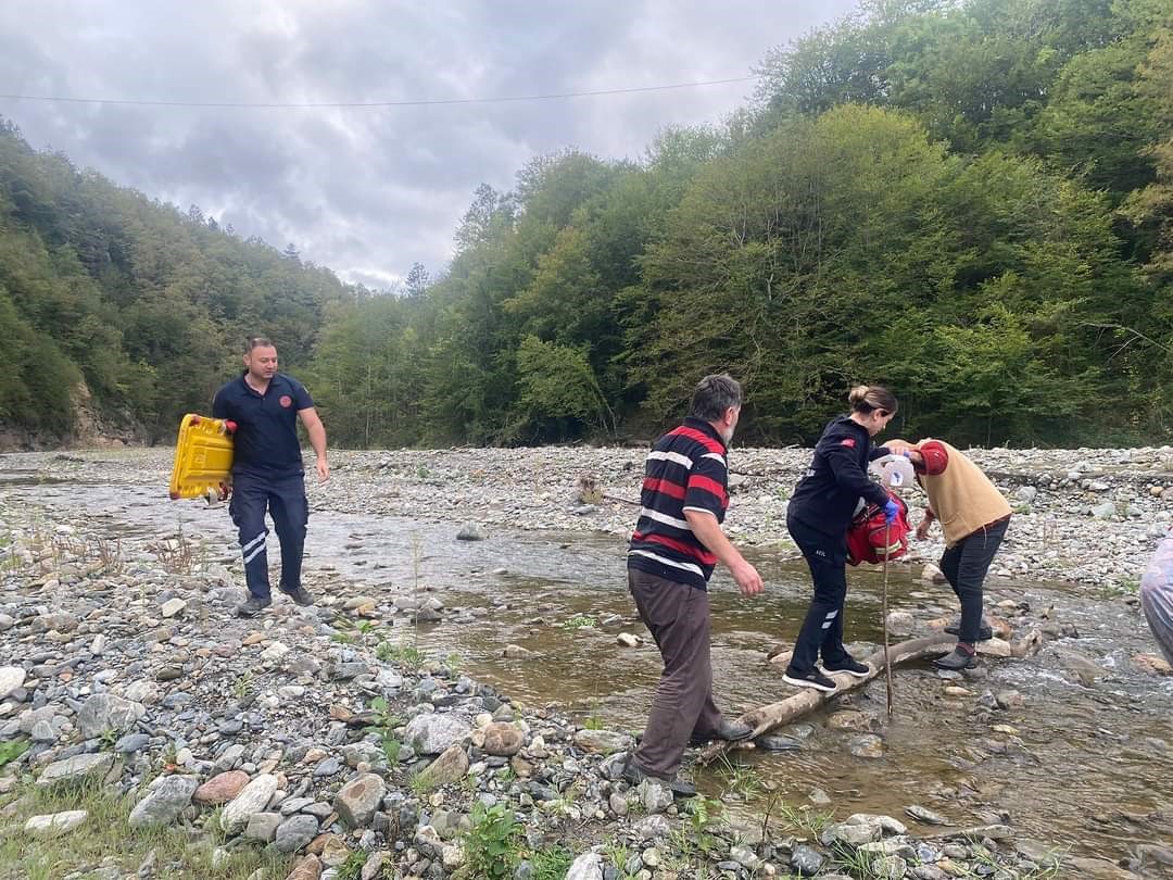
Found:
[[[786,528],[802,551],[814,582],[814,597],[791,658],[791,669],[802,675],[814,670],[820,654],[823,663],[833,664],[841,663],[848,656],[843,648],[847,535],[825,535],[794,516],[786,517]]]

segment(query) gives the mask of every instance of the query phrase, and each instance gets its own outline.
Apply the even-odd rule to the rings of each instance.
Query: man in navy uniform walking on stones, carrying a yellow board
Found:
[[[251,617],[272,604],[265,551],[265,510],[272,515],[282,546],[280,590],[299,605],[313,598],[301,587],[301,556],[310,505],[297,421],[301,420],[317,455],[318,480],[330,479],[326,428],[310,392],[297,379],[277,372],[277,348],[264,337],[250,337],[244,374],[216,392],[212,417],[236,422],[232,454],[232,501],[229,512],[239,529],[249,598],[237,608]]]

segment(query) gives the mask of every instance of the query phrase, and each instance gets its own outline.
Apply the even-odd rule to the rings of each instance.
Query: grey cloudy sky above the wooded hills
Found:
[[[747,76],[855,0],[38,0],[0,4],[0,93],[194,103],[497,99]],[[0,99],[36,148],[198,204],[344,279],[433,275],[480,183],[533,156],[638,158],[752,82],[547,101],[190,108]]]

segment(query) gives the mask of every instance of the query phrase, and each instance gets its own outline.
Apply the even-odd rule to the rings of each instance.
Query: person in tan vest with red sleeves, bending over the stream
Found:
[[[949,444],[927,439],[909,445],[908,451],[916,479],[929,496],[916,537],[923,541],[933,521],[941,522],[945,534],[941,571],[961,600],[961,625],[945,628],[957,635],[957,645],[934,665],[972,669],[977,643],[992,635],[982,623],[982,585],[1010,526],[1010,505],[982,469]]]

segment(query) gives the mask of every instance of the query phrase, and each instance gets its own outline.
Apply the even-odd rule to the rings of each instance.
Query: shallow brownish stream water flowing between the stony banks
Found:
[[[182,520],[187,534],[203,535],[223,549],[224,559],[236,554],[224,507],[170,502],[124,487],[21,490],[35,492],[38,503],[109,521],[123,533],[175,534]],[[615,629],[564,625],[576,616],[597,622],[616,614],[624,617],[624,629],[645,635],[626,594],[623,541],[496,533],[483,542],[463,542],[455,540],[456,529],[393,517],[316,515],[307,570],[333,569],[372,595],[427,587],[449,609],[484,609],[472,623],[421,627],[421,647],[459,655],[470,675],[524,705],[555,704],[579,719],[638,730],[659,675],[655,647],[622,649]],[[793,692],[765,657],[798,631],[809,589],[801,563],[769,553],[753,561],[767,581],[762,596],[743,598],[720,576],[712,588],[714,690],[730,715]],[[880,577],[853,570],[849,582],[847,636],[860,654],[882,639]],[[957,825],[1008,821],[1024,837],[1084,853],[1119,858],[1133,844],[1159,842],[1116,817],[1118,811],[1147,813],[1173,800],[1173,682],[1130,664],[1132,655],[1154,650],[1141,616],[1123,602],[1080,601],[1058,585],[991,598],[1006,595],[1035,609],[1055,605],[1055,618],[1074,623],[1080,634],[1063,647],[1092,657],[1108,676],[1092,688],[1076,684],[1047,649],[1029,661],[994,662],[984,681],[961,683],[971,696],[950,697],[944,689],[956,683],[938,678],[927,663],[911,664],[895,675],[890,722],[882,678],[830,708],[849,704],[880,719],[882,758],[853,757],[848,742],[857,733],[828,726],[822,713],[805,719],[815,732],[802,751],[752,752],[743,760],[791,803],[806,803],[816,787],[826,791],[839,815],[901,815],[906,806],[922,804]],[[893,609],[937,616],[942,611],[935,602],[944,596],[944,588],[925,587],[908,568],[894,567]],[[509,643],[538,656],[504,659],[501,650]],[[1022,693],[1021,708],[979,710],[984,692],[1006,690]],[[996,725],[1005,726],[996,731]],[[708,793],[720,793],[719,776],[698,776]]]

